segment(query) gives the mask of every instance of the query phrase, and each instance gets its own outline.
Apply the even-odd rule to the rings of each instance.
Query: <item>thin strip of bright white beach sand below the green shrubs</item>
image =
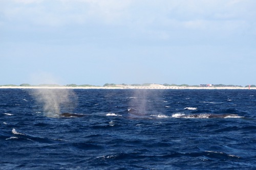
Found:
[[[150,86],[119,86],[119,87],[48,87],[48,86],[0,86],[0,89],[245,89],[248,87],[180,87],[180,86],[163,86],[163,85],[150,85]],[[250,89],[256,89],[251,87]]]

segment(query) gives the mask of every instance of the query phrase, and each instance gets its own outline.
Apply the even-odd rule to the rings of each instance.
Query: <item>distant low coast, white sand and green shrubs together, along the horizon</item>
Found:
[[[162,85],[162,84],[104,84],[103,86],[94,86],[94,85],[66,85],[61,86],[57,84],[42,84],[42,85],[29,85],[21,84],[17,85],[0,85],[0,89],[11,88],[11,89],[256,89],[255,85],[251,86],[233,86],[233,85],[200,85],[200,86],[189,86],[189,85]]]

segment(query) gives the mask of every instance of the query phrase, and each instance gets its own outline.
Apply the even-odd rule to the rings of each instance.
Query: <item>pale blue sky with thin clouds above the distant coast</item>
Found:
[[[0,0],[0,85],[256,84],[254,0]]]

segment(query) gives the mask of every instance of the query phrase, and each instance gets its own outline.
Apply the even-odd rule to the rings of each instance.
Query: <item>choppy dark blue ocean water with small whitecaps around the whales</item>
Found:
[[[256,90],[0,89],[0,169],[255,169],[255,110]]]

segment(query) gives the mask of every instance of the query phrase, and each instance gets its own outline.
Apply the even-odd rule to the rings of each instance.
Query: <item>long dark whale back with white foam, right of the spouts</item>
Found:
[[[201,114],[187,114],[178,115],[175,117],[181,118],[228,118],[228,117],[240,117],[238,114],[211,114],[211,113],[201,113]]]

